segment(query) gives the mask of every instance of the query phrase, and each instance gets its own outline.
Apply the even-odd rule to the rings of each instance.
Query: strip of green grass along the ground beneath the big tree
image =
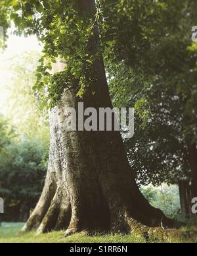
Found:
[[[0,243],[197,243],[197,228],[185,228],[185,234],[182,236],[180,232],[175,231],[165,238],[160,234],[154,234],[154,237],[146,241],[140,234],[130,234],[128,236],[108,235],[108,236],[85,236],[77,234],[64,238],[64,232],[52,232],[40,236],[35,236],[34,232],[28,234],[18,234],[22,223],[2,223],[0,226]]]

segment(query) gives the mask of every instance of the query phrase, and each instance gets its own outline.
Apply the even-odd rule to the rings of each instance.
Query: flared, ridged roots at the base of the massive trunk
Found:
[[[47,197],[47,199],[49,199]],[[35,208],[32,216],[28,220],[27,224],[24,226],[22,231],[30,231],[32,229],[37,229],[37,234],[43,234],[50,232],[51,230],[66,230],[65,237],[72,236],[77,233],[83,232],[86,235],[98,234],[99,233],[108,233],[112,234],[129,234],[131,232],[136,232],[141,234],[146,240],[154,237],[154,234],[160,234],[160,236],[167,236],[167,234],[173,234],[175,230],[169,230],[169,228],[179,228],[181,223],[175,222],[168,219],[160,210],[156,210],[158,213],[158,219],[156,221],[156,216],[154,220],[146,217],[146,214],[142,214],[139,211],[133,211],[131,208],[123,207],[121,201],[116,201],[116,204],[112,203],[110,205],[110,223],[108,223],[110,228],[104,230],[104,227],[97,227],[94,229],[94,226],[91,228],[91,222],[83,222],[80,218],[77,218],[76,212],[72,212],[72,206],[70,204],[70,197],[66,193],[65,189],[62,189],[62,185],[56,188],[56,193],[53,199],[51,199],[51,204],[47,204],[48,209],[41,207],[40,202]],[[117,208],[119,205],[120,208]],[[37,209],[43,210],[37,215]],[[104,209],[103,209],[104,210]],[[137,218],[133,218],[137,212]],[[43,216],[43,218],[41,218]],[[109,220],[109,219],[108,219]],[[141,222],[139,222],[141,220]],[[149,220],[149,222],[148,222]],[[91,221],[91,220],[90,220]],[[142,224],[144,222],[144,224]],[[148,226],[147,224],[150,224]],[[165,230],[165,228],[167,228]]]

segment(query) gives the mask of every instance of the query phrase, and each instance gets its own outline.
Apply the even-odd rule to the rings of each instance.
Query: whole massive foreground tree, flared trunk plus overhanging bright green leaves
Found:
[[[140,193],[119,132],[68,132],[62,124],[69,115],[64,110],[82,100],[85,107],[112,108],[99,50],[95,1],[14,0],[8,9],[19,32],[37,33],[45,44],[35,90],[43,92],[51,108],[45,187],[23,230],[67,228],[68,235],[81,230],[129,232],[143,228],[140,222],[173,226]],[[53,75],[51,65],[58,71]]]

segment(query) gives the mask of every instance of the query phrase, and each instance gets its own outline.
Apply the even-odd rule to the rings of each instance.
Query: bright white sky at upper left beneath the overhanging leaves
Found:
[[[41,51],[41,46],[35,36],[29,36],[28,38],[14,36],[9,31],[9,40],[7,41],[7,49],[2,51],[0,49],[0,112],[3,113],[3,108],[6,104],[7,91],[4,89],[5,85],[11,77],[11,71],[9,70],[9,59],[12,59],[15,55],[20,55],[27,51]],[[6,63],[6,65],[5,65]]]

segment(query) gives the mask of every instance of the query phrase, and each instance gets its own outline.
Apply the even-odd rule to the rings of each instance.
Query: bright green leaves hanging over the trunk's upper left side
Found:
[[[37,34],[43,43],[43,56],[37,69],[34,90],[45,106],[52,108],[71,80],[77,80],[76,94],[83,97],[90,86],[87,73],[95,55],[89,53],[89,40],[95,34],[95,15],[82,15],[77,1],[9,0],[1,3],[17,27],[17,33]],[[9,18],[6,18],[10,22]],[[66,63],[64,71],[51,75],[57,59]]]

